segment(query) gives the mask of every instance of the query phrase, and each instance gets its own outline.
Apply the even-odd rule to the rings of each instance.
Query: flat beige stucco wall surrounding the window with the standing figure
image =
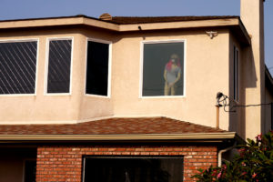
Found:
[[[176,39],[186,41],[185,96],[139,96],[142,82],[142,41]],[[168,31],[145,36],[127,34],[122,36],[113,49],[113,100],[117,116],[170,116],[201,125],[216,126],[216,95],[218,91],[228,90],[227,32],[221,31],[214,39],[210,39],[205,30]],[[227,116],[221,115],[221,121],[223,127],[227,127]]]

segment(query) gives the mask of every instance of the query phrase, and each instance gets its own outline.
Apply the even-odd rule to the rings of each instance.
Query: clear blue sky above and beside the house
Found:
[[[240,0],[0,0],[0,20],[69,15],[98,17],[239,15]],[[273,0],[265,2],[266,65],[273,74]]]

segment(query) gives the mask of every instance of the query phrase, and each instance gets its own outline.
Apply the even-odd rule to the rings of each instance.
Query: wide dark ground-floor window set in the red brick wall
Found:
[[[86,157],[85,182],[181,182],[182,157]]]

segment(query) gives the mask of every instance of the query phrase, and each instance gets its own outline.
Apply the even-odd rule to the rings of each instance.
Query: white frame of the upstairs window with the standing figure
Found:
[[[162,44],[162,43],[184,43],[184,61],[183,61],[183,95],[182,96],[143,96],[143,66],[144,66],[144,45]],[[186,60],[187,60],[187,39],[169,39],[169,40],[147,40],[141,41],[140,48],[140,77],[139,77],[139,98],[183,98],[186,97]]]

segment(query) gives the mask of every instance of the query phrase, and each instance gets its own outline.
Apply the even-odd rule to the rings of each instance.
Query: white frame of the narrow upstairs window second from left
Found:
[[[49,64],[49,43],[56,40],[71,40],[71,60],[70,60],[70,83],[68,93],[47,93],[48,64]],[[74,55],[74,36],[47,37],[45,50],[45,83],[44,96],[70,96],[72,95],[72,75],[73,75],[73,55]]]

